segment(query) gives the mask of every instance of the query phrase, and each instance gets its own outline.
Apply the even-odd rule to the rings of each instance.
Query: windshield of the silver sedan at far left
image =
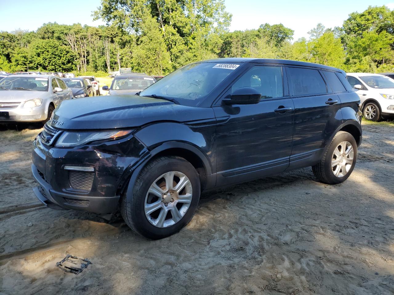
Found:
[[[5,77],[0,81],[0,90],[48,91],[48,78]]]

